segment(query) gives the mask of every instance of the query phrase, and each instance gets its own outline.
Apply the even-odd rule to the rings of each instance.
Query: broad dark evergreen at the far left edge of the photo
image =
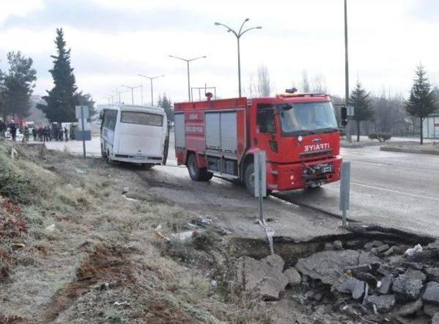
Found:
[[[9,70],[3,76],[3,117],[29,116],[29,99],[36,81],[36,70],[32,68],[32,58],[26,58],[20,51],[8,53]],[[0,103],[1,105],[1,103]]]

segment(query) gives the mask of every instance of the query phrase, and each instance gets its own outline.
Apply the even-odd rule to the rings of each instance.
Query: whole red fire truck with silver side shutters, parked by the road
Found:
[[[209,99],[174,104],[176,157],[191,179],[235,179],[253,193],[257,150],[266,153],[269,191],[340,179],[340,132],[329,95]]]

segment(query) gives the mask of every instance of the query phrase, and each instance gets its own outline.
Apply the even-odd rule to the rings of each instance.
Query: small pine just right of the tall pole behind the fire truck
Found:
[[[370,105],[370,93],[362,88],[359,81],[357,86],[352,90],[349,102],[354,108],[353,120],[357,123],[357,142],[359,142],[360,123],[372,119],[374,111]]]

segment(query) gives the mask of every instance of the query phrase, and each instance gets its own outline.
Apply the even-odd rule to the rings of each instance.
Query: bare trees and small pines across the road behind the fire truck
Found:
[[[309,77],[307,71],[302,71],[300,82],[292,82],[292,88],[299,92],[327,93],[328,87],[321,74]],[[270,74],[265,65],[259,66],[256,77],[250,75],[246,95],[248,97],[270,97],[273,86]],[[344,105],[342,97],[331,96],[335,107]],[[421,64],[416,67],[413,86],[410,95],[403,95],[383,90],[374,94],[368,92],[359,80],[351,90],[349,105],[354,107],[352,117],[357,141],[361,134],[382,133],[393,136],[420,136],[423,144],[423,121],[429,114],[439,111],[439,88],[433,86],[427,78],[427,71]],[[337,116],[340,122],[340,115]]]

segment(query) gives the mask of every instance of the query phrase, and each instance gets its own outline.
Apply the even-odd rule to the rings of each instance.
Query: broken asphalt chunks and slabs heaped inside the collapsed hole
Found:
[[[346,314],[361,323],[439,324],[439,241],[409,249],[392,241],[337,240],[294,267],[283,263],[276,255],[243,257],[238,279],[265,299],[292,298],[328,323]]]

